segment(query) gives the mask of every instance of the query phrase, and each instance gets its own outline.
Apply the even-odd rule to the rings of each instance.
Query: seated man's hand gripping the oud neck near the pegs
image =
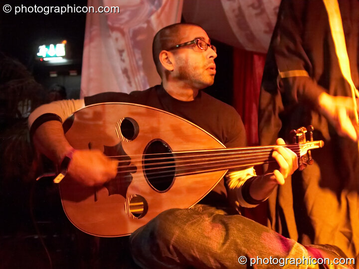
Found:
[[[285,145],[284,140],[278,138],[277,145]],[[279,168],[274,169],[272,173],[266,173],[264,176],[276,184],[283,185],[284,179],[298,169],[297,154],[288,147],[278,146],[274,148],[272,157],[277,161]],[[271,170],[271,168],[269,169]]]

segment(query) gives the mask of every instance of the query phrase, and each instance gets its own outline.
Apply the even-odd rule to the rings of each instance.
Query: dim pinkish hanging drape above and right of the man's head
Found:
[[[210,8],[204,8],[208,6]],[[184,0],[186,22],[201,25],[212,39],[267,53],[280,0]]]

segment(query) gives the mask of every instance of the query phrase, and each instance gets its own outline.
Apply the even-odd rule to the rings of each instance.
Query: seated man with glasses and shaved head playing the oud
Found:
[[[243,124],[235,110],[201,91],[213,84],[217,56],[201,27],[174,24],[161,29],[154,37],[153,55],[162,85],[129,95],[103,93],[39,107],[29,118],[36,147],[57,164],[63,163],[65,156],[71,158],[68,174],[83,185],[102,185],[114,178],[117,165],[99,150],[74,150],[61,125],[78,108],[110,101],[162,109],[193,122],[227,147],[245,145]],[[278,144],[283,145],[283,141],[279,139]],[[275,148],[272,156],[278,169],[262,176],[256,176],[253,167],[230,171],[225,177],[226,188],[224,182],[219,183],[220,192],[214,196],[223,196],[227,190],[228,201],[236,209],[265,200],[298,167],[296,154],[284,146]],[[313,248],[305,248],[238,214],[229,214],[228,206],[210,195],[191,209],[167,210],[136,230],[130,237],[135,262],[143,268],[246,268],[249,264],[243,264],[243,260],[240,264],[239,257],[308,259],[311,255]],[[319,246],[315,249],[321,250]],[[289,267],[298,268],[293,264]]]

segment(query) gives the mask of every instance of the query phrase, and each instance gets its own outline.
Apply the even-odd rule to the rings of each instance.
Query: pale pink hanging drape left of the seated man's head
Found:
[[[158,30],[180,21],[182,0],[88,0],[88,6],[109,12],[87,14],[80,96],[159,84],[152,40]]]

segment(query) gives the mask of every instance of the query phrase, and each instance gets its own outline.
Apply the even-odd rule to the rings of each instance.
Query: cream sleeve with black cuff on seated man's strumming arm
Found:
[[[28,127],[30,135],[34,134],[36,129],[45,122],[59,121],[63,123],[75,111],[85,107],[83,99],[61,100],[36,108],[28,118]]]

